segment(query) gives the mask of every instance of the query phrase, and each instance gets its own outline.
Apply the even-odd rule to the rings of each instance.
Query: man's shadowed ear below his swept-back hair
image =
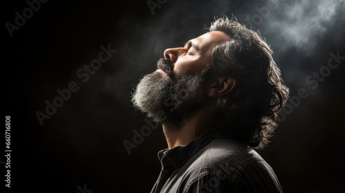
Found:
[[[236,81],[231,77],[212,77],[206,88],[206,93],[210,97],[224,96],[235,88]]]

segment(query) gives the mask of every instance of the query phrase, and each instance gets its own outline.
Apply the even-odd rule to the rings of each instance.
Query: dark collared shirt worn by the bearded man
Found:
[[[158,152],[154,192],[283,192],[273,169],[248,145],[212,129]]]

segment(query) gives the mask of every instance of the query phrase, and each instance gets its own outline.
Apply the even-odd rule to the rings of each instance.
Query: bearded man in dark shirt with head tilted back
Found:
[[[259,34],[227,17],[165,50],[132,95],[168,143],[152,192],[282,192],[255,151],[269,143],[288,99],[272,55]]]

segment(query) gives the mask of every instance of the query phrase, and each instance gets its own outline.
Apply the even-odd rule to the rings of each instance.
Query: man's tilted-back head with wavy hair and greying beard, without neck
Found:
[[[262,37],[237,21],[216,19],[208,32],[170,48],[132,96],[136,108],[178,130],[210,110],[216,128],[264,148],[277,127],[288,88]]]

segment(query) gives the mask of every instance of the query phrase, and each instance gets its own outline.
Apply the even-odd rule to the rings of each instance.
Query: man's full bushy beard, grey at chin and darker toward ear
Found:
[[[178,130],[199,110],[203,93],[199,75],[161,77],[152,72],[139,81],[131,101],[154,121]]]

